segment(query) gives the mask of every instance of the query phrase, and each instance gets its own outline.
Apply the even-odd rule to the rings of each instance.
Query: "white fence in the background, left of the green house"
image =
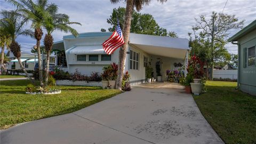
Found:
[[[237,79],[237,69],[234,70],[213,70],[213,78]]]

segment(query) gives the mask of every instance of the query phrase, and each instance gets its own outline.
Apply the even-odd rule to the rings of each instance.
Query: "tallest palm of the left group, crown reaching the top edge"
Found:
[[[36,38],[36,49],[38,55],[38,70],[39,70],[39,81],[40,86],[43,86],[43,70],[42,70],[42,58],[40,42],[43,36],[42,26],[45,18],[49,17],[51,13],[57,11],[57,5],[49,4],[47,0],[37,0],[34,3],[32,0],[7,0],[7,2],[16,6],[17,9],[22,13],[22,16],[26,19],[31,20],[31,27],[35,29],[34,36]]]

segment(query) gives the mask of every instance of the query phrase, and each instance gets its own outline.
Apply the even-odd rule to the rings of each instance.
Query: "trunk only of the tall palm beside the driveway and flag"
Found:
[[[119,65],[118,65],[118,75],[117,75],[117,82],[116,82],[116,89],[119,89],[119,90],[122,90],[126,51],[128,49],[128,41],[129,41],[130,29],[131,29],[132,11],[133,11],[133,0],[127,0],[125,18],[124,18],[124,29],[123,29],[124,45],[119,50]]]

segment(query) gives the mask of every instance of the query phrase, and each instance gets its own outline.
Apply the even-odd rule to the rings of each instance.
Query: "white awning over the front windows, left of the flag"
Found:
[[[81,45],[71,47],[66,51],[68,54],[106,54],[102,45]]]

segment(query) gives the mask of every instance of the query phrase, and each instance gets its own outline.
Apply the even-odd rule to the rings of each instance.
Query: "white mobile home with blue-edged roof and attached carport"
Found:
[[[102,73],[104,66],[113,62],[118,63],[119,49],[107,55],[101,45],[111,34],[93,32],[81,33],[77,38],[73,35],[63,36],[63,41],[54,43],[53,49],[65,50],[69,73],[76,70],[86,75],[90,75],[92,71]],[[188,51],[188,39],[130,34],[125,71],[131,74],[131,83],[145,82],[145,67],[153,67],[156,78],[155,63],[161,61],[161,73],[165,78],[167,69],[179,68],[176,63],[186,65]]]

